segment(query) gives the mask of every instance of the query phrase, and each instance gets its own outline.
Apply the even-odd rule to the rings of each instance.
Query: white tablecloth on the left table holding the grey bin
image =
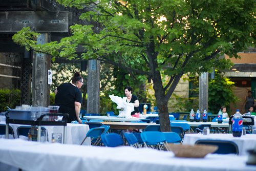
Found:
[[[5,124],[5,122],[0,122],[0,124]],[[21,125],[21,124],[9,124],[13,131],[14,131],[14,137],[17,138],[17,127],[18,126],[29,126],[29,125]],[[48,139],[49,142],[52,140],[52,133],[61,133],[63,134],[63,126],[42,126],[45,127],[48,132]],[[86,124],[72,124],[67,123],[67,144],[80,144],[84,137],[86,137],[86,134],[89,131],[89,125]],[[1,136],[1,138],[4,138],[5,136]],[[27,137],[19,136],[20,139],[27,140]],[[9,135],[9,138],[12,138],[12,136]],[[62,135],[63,140],[63,135]],[[91,145],[91,139],[88,137],[86,141],[84,141],[83,145]]]

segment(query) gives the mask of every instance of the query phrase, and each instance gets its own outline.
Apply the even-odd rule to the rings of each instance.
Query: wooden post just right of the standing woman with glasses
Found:
[[[99,113],[100,61],[89,60],[87,78],[87,113]]]

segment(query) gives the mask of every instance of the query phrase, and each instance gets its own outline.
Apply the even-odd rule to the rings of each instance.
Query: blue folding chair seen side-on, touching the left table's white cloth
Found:
[[[88,131],[86,134],[86,137],[82,140],[81,144],[87,139],[87,137],[91,137],[91,143],[92,145],[98,145],[100,141],[100,135],[103,134],[105,131],[104,127],[94,127]],[[96,138],[96,141],[94,140]]]

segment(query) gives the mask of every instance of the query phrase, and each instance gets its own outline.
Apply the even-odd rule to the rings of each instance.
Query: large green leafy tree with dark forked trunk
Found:
[[[162,131],[170,131],[167,102],[184,73],[202,73],[230,62],[254,41],[254,0],[57,0],[85,11],[92,25],[70,27],[60,42],[36,45],[38,33],[24,28],[13,40],[38,52],[74,58],[81,45],[84,59],[98,59],[154,83]],[[254,41],[255,42],[255,41]],[[165,84],[161,73],[168,75]]]

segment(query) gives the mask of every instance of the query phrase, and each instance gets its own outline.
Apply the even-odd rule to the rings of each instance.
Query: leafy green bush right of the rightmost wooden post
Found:
[[[234,82],[217,72],[215,74],[215,79],[209,80],[209,111],[212,113],[218,113],[221,106],[226,106],[227,109],[229,109],[230,103],[236,104],[238,98],[233,94],[233,87]]]

